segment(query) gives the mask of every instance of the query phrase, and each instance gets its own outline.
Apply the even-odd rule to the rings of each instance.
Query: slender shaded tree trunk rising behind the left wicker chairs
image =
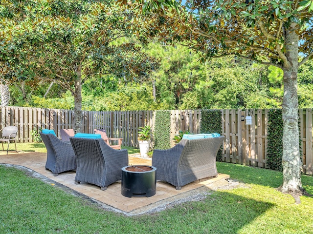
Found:
[[[80,133],[83,128],[82,112],[82,66],[79,64],[76,69],[77,79],[75,80],[74,96],[74,132]]]

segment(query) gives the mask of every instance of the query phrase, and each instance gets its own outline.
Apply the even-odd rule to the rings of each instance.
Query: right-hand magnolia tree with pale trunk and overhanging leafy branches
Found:
[[[284,72],[283,184],[280,191],[305,193],[298,127],[298,68],[313,56],[312,0],[121,0],[150,14],[147,32],[198,51],[202,61],[234,55]],[[138,36],[149,35],[138,31]],[[312,172],[309,172],[312,173]]]

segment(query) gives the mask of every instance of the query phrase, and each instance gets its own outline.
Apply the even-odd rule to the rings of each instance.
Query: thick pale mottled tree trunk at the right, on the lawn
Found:
[[[285,63],[284,71],[284,97],[282,104],[284,135],[283,135],[283,184],[279,190],[297,196],[296,202],[300,202],[298,195],[303,194],[301,183],[302,161],[299,149],[298,126],[298,41],[299,37],[292,27],[285,34],[286,57],[289,63]]]

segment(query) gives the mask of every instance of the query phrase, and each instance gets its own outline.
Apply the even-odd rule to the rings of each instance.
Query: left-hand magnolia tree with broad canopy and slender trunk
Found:
[[[86,79],[103,74],[141,77],[157,65],[126,38],[132,12],[114,1],[7,0],[0,15],[0,58],[9,60],[17,78],[39,78],[69,90],[76,132],[82,129]]]

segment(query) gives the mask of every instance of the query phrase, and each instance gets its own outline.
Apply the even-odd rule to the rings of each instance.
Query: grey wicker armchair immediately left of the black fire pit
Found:
[[[122,179],[122,167],[128,166],[128,151],[112,149],[102,138],[70,137],[76,162],[75,184],[87,182],[106,190]]]

